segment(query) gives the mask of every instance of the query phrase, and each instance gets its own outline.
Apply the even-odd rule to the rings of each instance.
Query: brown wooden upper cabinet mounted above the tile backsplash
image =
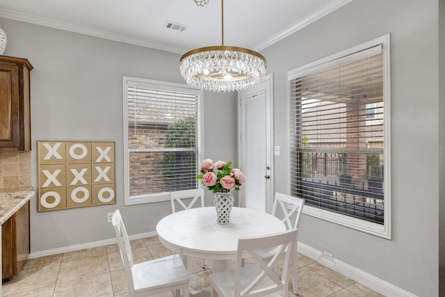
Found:
[[[32,69],[25,58],[0,56],[0,150],[31,150]]]

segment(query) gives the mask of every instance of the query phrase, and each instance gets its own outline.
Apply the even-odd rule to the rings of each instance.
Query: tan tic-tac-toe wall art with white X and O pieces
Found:
[[[114,142],[37,143],[39,211],[116,203]]]

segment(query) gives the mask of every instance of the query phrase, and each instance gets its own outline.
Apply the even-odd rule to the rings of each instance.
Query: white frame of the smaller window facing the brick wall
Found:
[[[150,193],[143,195],[133,195],[130,196],[130,186],[129,186],[129,149],[128,149],[128,86],[136,86],[140,88],[154,88],[157,90],[165,90],[170,92],[178,93],[191,93],[197,96],[198,102],[198,113],[197,113],[197,160],[201,160],[204,155],[203,143],[204,135],[202,133],[202,120],[203,120],[203,100],[204,92],[202,90],[196,90],[186,85],[185,83],[172,83],[168,81],[156,81],[153,79],[143,79],[138,77],[122,77],[122,105],[123,105],[123,130],[124,130],[124,205],[133,204],[145,204],[152,202],[161,202],[170,200],[170,192],[162,193]],[[200,164],[197,163],[197,170]]]

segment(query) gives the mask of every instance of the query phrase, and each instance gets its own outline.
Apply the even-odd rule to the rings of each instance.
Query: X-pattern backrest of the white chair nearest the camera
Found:
[[[236,259],[236,271],[235,271],[235,295],[234,296],[266,296],[273,294],[274,292],[281,292],[282,296],[287,296],[289,283],[289,265],[291,264],[291,255],[295,246],[297,230],[291,229],[279,234],[272,234],[263,237],[250,237],[238,239],[238,255]],[[274,249],[273,257],[264,259],[261,257],[261,251],[264,249]],[[260,271],[250,275],[252,282],[244,284],[242,279],[241,263],[246,252],[254,258],[257,264],[261,267]],[[284,263],[281,262],[284,257]],[[283,265],[282,275],[277,274],[277,266]],[[268,282],[268,286],[265,287],[264,283]],[[243,287],[241,284],[243,283]]]

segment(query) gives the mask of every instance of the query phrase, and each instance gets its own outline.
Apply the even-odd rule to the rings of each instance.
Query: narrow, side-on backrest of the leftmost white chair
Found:
[[[133,266],[133,255],[131,254],[130,241],[119,209],[114,211],[113,218],[111,218],[111,223],[113,224],[116,239],[118,240],[120,257],[122,257],[122,261],[124,262],[128,289],[129,291],[134,291],[133,274],[131,273],[131,267]]]

